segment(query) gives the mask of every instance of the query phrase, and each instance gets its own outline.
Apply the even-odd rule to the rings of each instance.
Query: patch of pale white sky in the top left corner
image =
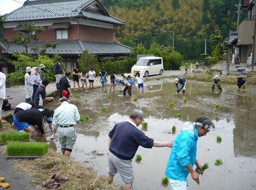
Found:
[[[14,11],[21,7],[25,1],[26,0],[0,0],[0,15]]]

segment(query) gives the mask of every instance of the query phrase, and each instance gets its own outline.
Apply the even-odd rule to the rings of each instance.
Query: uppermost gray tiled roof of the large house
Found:
[[[5,22],[47,20],[56,18],[86,18],[123,25],[124,22],[111,15],[100,15],[90,11],[82,11],[97,0],[38,0],[25,2],[21,8],[4,15]],[[79,14],[82,12],[83,15]]]

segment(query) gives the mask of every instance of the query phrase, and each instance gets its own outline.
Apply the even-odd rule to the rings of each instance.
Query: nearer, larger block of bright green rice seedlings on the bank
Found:
[[[45,142],[10,142],[7,144],[7,156],[43,156],[48,152]]]

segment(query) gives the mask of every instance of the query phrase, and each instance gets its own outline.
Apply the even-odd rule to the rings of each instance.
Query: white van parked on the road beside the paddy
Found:
[[[136,72],[142,74],[143,77],[153,74],[162,75],[164,72],[163,58],[155,56],[139,58],[131,71],[132,74],[136,74]]]

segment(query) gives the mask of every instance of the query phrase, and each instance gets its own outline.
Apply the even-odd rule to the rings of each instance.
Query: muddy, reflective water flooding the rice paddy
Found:
[[[233,85],[223,85],[223,92],[211,92],[210,83],[188,83],[183,103],[182,94],[173,96],[175,87],[170,80],[155,80],[146,83],[145,93],[122,97],[120,92],[110,93],[111,98],[101,90],[90,93],[79,93],[80,98],[73,103],[79,108],[80,115],[90,116],[77,127],[78,139],[72,157],[85,165],[95,167],[101,175],[106,174],[108,132],[114,124],[126,121],[134,108],[145,112],[148,123],[146,135],[155,141],[174,140],[178,131],[186,121],[192,121],[198,116],[218,117],[214,121],[216,129],[198,140],[197,159],[202,164],[209,163],[209,169],[196,185],[188,176],[189,189],[256,189],[256,91],[248,86],[246,92],[237,92]],[[134,102],[133,97],[138,97]],[[251,97],[251,100],[247,99]],[[85,99],[87,102],[85,103]],[[174,109],[169,109],[168,103],[174,102]],[[214,109],[220,104],[219,110]],[[101,106],[108,111],[103,113]],[[52,107],[55,107],[53,105]],[[177,113],[182,117],[177,118]],[[170,134],[175,125],[176,134]],[[141,129],[141,126],[139,126]],[[216,143],[216,136],[222,137],[221,143]],[[59,150],[59,144],[57,142]],[[170,155],[169,148],[139,148],[136,154],[141,154],[142,161],[133,160],[135,181],[134,189],[171,189],[161,186],[161,178],[165,176],[165,167]],[[214,161],[221,159],[222,166],[215,166]],[[114,182],[122,185],[117,174]]]

